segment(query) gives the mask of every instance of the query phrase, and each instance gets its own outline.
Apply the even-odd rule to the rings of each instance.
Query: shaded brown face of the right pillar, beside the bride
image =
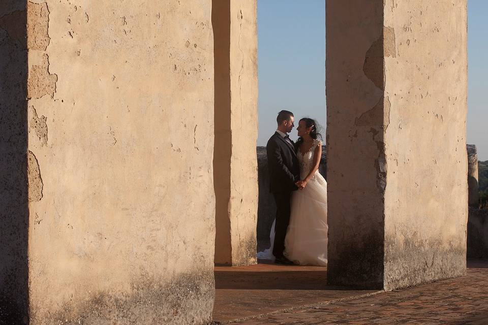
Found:
[[[325,12],[328,281],[382,287],[389,127],[383,6],[326,2]]]

